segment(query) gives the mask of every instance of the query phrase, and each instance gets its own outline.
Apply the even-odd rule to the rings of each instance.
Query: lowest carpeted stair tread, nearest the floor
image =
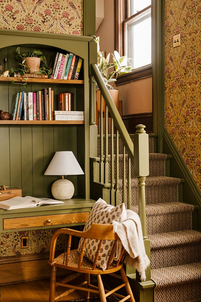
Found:
[[[201,262],[157,268],[151,270],[156,288],[201,281]]]

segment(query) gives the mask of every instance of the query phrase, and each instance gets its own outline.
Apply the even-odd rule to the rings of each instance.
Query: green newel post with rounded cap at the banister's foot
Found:
[[[142,225],[144,246],[146,254],[150,259],[150,240],[146,233],[146,203],[145,203],[145,180],[149,175],[149,135],[144,130],[144,125],[137,125],[137,131],[134,134],[134,171],[138,178],[139,187],[139,216]],[[137,273],[136,278],[140,280]],[[151,268],[146,269],[146,281],[151,280]]]

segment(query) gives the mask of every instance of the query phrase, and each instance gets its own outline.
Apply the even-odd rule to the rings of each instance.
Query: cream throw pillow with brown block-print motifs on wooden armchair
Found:
[[[107,204],[104,200],[99,198],[98,201],[94,204],[84,231],[88,230],[92,223],[100,224],[111,224],[113,220],[121,222],[127,218],[126,208],[124,204],[119,204],[114,207],[111,204]],[[78,251],[81,252],[81,247],[83,243],[83,238],[80,239],[78,245]],[[87,239],[85,243],[84,256],[94,262],[96,250],[97,250],[98,240]],[[103,240],[102,246],[99,254],[99,259],[97,266],[102,268],[104,271],[107,266],[107,261],[111,253],[111,247],[113,245],[113,240]],[[113,257],[114,260],[114,257]]]

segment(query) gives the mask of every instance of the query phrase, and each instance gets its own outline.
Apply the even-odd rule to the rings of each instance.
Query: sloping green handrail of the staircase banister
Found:
[[[99,69],[96,64],[91,64],[92,74],[96,80],[98,87],[100,88],[103,98],[105,100],[105,104],[107,105],[109,112],[112,112],[112,118],[115,123],[115,127],[118,130],[120,137],[123,141],[123,144],[126,148],[128,156],[130,157],[131,161],[133,162],[133,143],[132,140],[126,130],[124,122],[122,119],[119,118],[119,112],[112,100],[110,93],[108,92],[108,88],[105,85],[105,82],[99,72]]]

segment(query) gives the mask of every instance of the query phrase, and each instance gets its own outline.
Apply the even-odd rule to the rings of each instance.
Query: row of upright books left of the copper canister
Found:
[[[17,92],[13,95],[11,115],[13,120],[53,120],[53,95],[51,88],[35,92]]]

